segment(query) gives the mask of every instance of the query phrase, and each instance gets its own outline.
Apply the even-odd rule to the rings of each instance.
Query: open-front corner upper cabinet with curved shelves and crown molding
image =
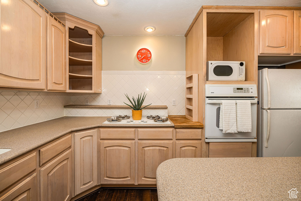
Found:
[[[101,28],[67,13],[54,13],[67,30],[67,92],[101,93]]]

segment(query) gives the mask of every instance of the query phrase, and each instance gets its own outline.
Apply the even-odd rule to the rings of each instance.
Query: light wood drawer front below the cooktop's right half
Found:
[[[138,129],[138,139],[172,139],[172,129]]]

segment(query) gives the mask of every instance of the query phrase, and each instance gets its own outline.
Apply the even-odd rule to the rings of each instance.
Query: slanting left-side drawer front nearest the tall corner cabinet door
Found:
[[[68,135],[67,137],[62,138],[61,140],[58,140],[40,149],[39,150],[40,166],[70,146],[71,146],[71,135]]]

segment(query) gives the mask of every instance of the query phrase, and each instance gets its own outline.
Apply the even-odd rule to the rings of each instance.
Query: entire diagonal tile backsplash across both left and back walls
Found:
[[[103,71],[101,94],[0,90],[0,132],[63,116],[129,115],[130,109],[64,108],[69,104],[129,103],[124,93],[147,93],[144,104],[167,105],[167,110],[145,109],[143,115],[185,115],[185,71]],[[172,105],[176,99],[176,105]],[[40,107],[35,108],[34,100]]]

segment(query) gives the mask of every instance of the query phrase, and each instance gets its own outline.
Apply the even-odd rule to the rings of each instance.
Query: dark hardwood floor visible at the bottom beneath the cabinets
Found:
[[[101,188],[76,201],[157,201],[156,188]]]

